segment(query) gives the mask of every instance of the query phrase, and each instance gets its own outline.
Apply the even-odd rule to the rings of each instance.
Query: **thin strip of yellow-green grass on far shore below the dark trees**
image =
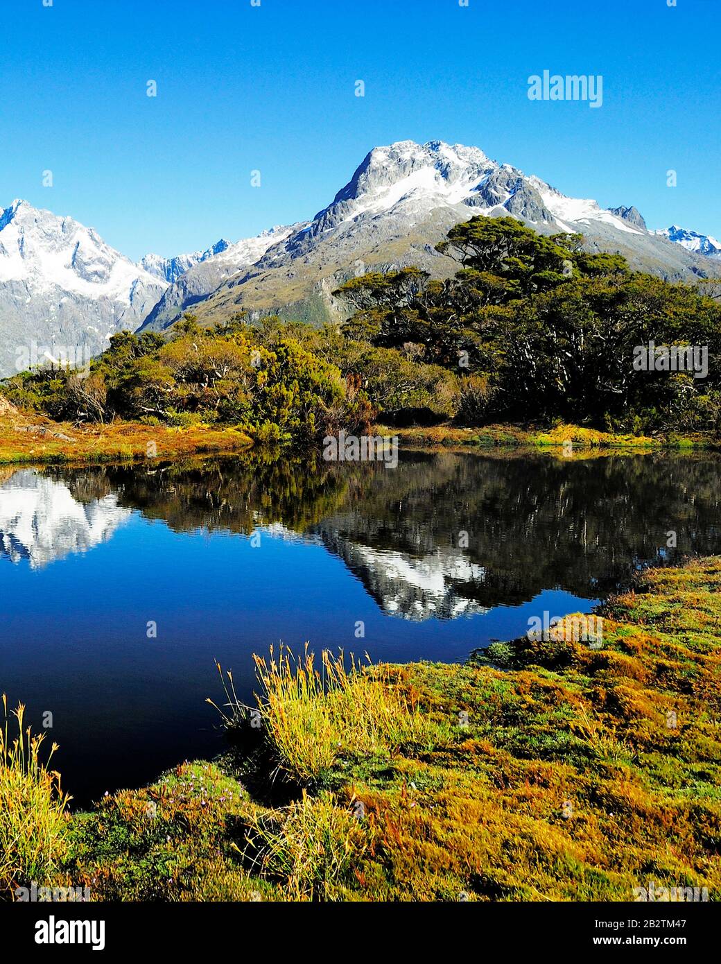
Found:
[[[580,449],[589,451],[645,452],[670,449],[700,450],[719,449],[721,441],[713,436],[695,434],[681,435],[621,435],[600,432],[579,425],[559,424],[551,429],[527,429],[518,425],[484,425],[480,428],[461,428],[455,425],[430,427],[390,428],[377,425],[379,435],[398,436],[406,448],[469,448],[489,449],[505,447],[531,447],[537,449]]]

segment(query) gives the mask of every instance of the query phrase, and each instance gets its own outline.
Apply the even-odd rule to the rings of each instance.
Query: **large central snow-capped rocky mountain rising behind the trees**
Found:
[[[634,207],[608,210],[597,201],[569,198],[478,147],[401,141],[374,148],[328,207],[288,230],[212,294],[200,295],[194,313],[205,324],[239,308],[252,317],[277,312],[311,322],[338,318],[344,307],[332,292],[354,274],[409,264],[434,277],[452,273],[456,265],[435,245],[448,228],[474,215],[513,215],[544,233],[579,231],[590,251],[619,252],[633,267],[672,281],[716,270],[703,253],[649,231]],[[177,283],[182,287],[183,278]],[[171,289],[164,302],[147,327],[167,328],[189,299]]]

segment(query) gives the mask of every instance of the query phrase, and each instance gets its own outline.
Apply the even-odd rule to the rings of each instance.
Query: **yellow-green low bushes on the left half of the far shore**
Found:
[[[241,323],[208,330],[192,316],[170,340],[114,335],[89,372],[25,372],[5,383],[5,393],[78,423],[122,417],[185,428],[232,424],[275,442],[362,431],[371,415],[363,392],[292,337],[266,346]]]

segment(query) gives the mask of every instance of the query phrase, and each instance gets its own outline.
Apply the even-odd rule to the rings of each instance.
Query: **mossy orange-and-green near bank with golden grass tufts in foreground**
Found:
[[[260,728],[227,679],[234,749],[68,817],[47,882],[98,900],[628,900],[649,881],[718,899],[719,584],[721,557],[646,573],[603,608],[601,649],[327,658],[325,688],[276,654]]]

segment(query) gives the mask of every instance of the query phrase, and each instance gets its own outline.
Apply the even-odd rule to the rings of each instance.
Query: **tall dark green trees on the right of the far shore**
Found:
[[[344,331],[387,351],[415,345],[418,367],[453,372],[463,424],[561,418],[718,432],[721,308],[711,286],[632,272],[620,255],[581,243],[513,218],[473,218],[438,245],[461,265],[453,278],[405,268],[342,285],[335,294],[355,309]],[[708,377],[634,370],[634,348],[651,341],[708,347]]]

